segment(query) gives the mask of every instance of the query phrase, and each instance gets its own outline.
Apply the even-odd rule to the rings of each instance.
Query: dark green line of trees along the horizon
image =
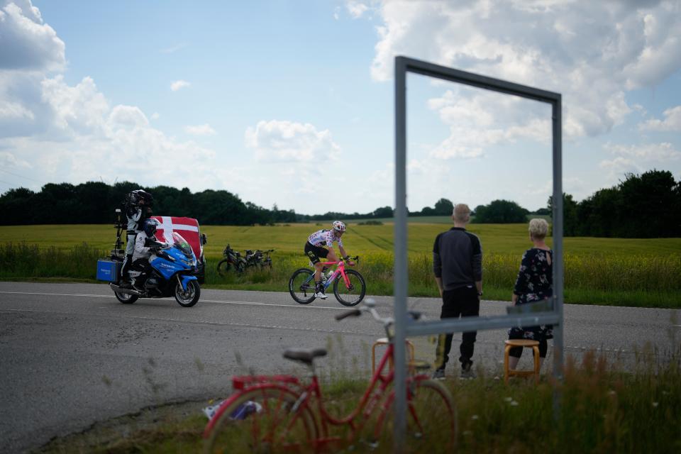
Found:
[[[107,223],[114,221],[114,209],[125,194],[139,189],[134,182],[82,184],[48,183],[40,192],[10,189],[0,196],[0,225]],[[154,196],[155,214],[197,218],[202,224],[251,226],[273,223],[326,221],[349,218],[391,218],[394,209],[382,206],[370,213],[299,214],[266,209],[244,202],[231,192],[212,189],[192,193],[187,188],[157,186],[144,188]],[[454,204],[439,199],[433,207],[409,211],[409,216],[450,216]],[[552,213],[549,197],[546,208],[531,213],[514,201],[494,200],[473,211],[474,223],[523,223],[528,214]],[[618,238],[660,238],[681,236],[681,182],[671,172],[651,170],[643,175],[626,175],[614,187],[600,189],[577,202],[563,194],[565,236]]]

